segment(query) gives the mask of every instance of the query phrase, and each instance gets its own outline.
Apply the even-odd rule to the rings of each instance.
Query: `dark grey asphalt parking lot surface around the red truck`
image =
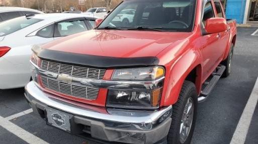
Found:
[[[230,143],[258,76],[258,35],[251,35],[256,29],[238,27],[232,74],[199,103],[192,143]],[[0,143],[98,143],[46,125],[23,93],[23,88],[0,90]],[[250,118],[246,144],[258,143],[258,106]]]

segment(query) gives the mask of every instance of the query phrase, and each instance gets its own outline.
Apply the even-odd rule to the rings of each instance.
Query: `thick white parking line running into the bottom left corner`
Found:
[[[10,122],[9,120],[5,119],[2,116],[0,116],[0,126],[4,127],[8,131],[12,132],[13,134],[15,134],[16,136],[20,137],[21,139],[23,139],[24,141],[30,144],[34,144],[34,143],[48,144],[46,141],[24,130],[18,125],[15,125],[14,123]]]

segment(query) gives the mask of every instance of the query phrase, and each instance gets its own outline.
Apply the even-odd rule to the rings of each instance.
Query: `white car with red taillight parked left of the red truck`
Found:
[[[82,14],[49,13],[1,22],[0,89],[23,87],[29,82],[29,60],[34,44],[92,29],[95,19]]]

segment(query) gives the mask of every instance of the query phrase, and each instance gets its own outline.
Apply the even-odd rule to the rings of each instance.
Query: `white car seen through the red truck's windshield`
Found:
[[[125,9],[122,10],[112,21],[120,21],[124,25],[128,25],[129,23],[133,22],[135,14],[135,9]]]

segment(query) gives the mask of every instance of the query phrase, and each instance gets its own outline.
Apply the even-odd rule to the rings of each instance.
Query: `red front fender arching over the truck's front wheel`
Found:
[[[165,77],[167,78],[165,78],[164,81],[160,106],[175,104],[178,101],[178,97],[186,77],[196,67],[198,67],[198,74],[195,84],[198,92],[200,92],[202,76],[201,56],[197,48],[189,48],[191,46],[194,47],[190,44],[190,40],[187,39],[181,41],[181,43],[168,51],[162,51],[162,53],[165,54],[161,56],[160,61],[166,63],[162,64],[166,67]],[[168,58],[167,56],[171,59],[171,55],[175,55],[177,58],[174,58],[174,60],[171,61],[164,61]]]

